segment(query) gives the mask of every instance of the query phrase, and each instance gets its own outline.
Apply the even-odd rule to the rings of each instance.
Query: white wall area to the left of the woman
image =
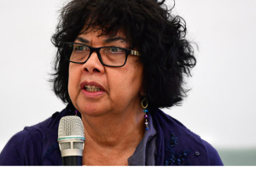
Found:
[[[0,0],[0,148],[25,126],[64,108],[47,81],[55,55],[50,37],[61,4]]]

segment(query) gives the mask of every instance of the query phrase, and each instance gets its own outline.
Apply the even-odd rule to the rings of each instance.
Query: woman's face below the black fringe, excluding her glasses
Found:
[[[75,42],[94,48],[129,48],[129,43],[121,32],[115,37],[98,37],[100,33],[101,31],[92,30],[79,35]],[[123,67],[108,67],[102,65],[94,52],[84,64],[70,63],[68,93],[73,105],[81,113],[90,116],[101,116],[108,112],[121,113],[140,105],[143,65],[137,59],[137,56],[130,54]],[[101,89],[90,92],[88,87],[91,86]]]

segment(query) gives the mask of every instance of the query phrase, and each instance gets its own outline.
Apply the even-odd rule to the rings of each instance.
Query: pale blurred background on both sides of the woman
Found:
[[[172,8],[174,2],[166,1]],[[0,151],[17,132],[61,111],[51,92],[64,0],[0,0]],[[165,110],[218,150],[225,166],[256,166],[256,1],[177,0],[197,65],[182,106]]]

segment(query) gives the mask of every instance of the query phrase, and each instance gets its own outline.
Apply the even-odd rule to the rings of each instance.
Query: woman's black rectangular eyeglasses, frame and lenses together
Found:
[[[90,55],[96,52],[102,65],[110,67],[122,67],[125,65],[129,54],[140,56],[138,51],[119,48],[119,47],[102,47],[92,48],[83,43],[66,42],[64,43],[64,55],[69,62],[84,64],[90,58]]]

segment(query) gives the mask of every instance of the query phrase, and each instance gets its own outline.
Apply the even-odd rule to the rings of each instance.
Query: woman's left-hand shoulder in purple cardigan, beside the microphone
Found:
[[[59,166],[60,150],[57,143],[58,126],[62,116],[71,115],[67,106],[44,122],[25,127],[5,145],[0,155],[0,166],[42,167]],[[56,161],[56,162],[53,162]]]

